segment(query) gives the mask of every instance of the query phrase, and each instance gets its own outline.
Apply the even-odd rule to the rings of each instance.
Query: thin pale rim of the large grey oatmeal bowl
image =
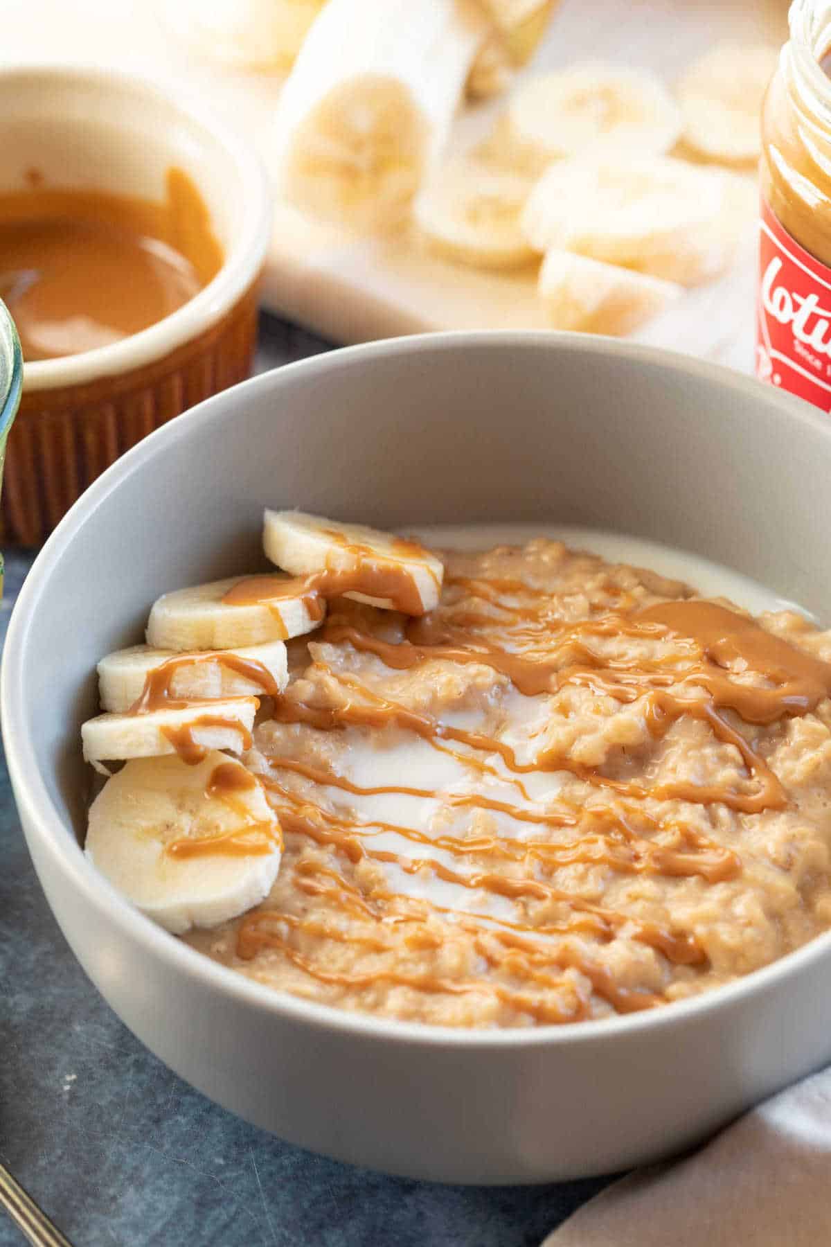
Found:
[[[829,930],[770,965],[754,970],[734,983],[714,988],[711,991],[686,1000],[673,1001],[667,1008],[588,1021],[477,1030],[376,1018],[371,1014],[351,1013],[334,1005],[303,1000],[288,991],[265,986],[229,966],[213,961],[203,953],[169,935],[152,919],[135,909],[121,893],[98,874],[77,844],[72,828],[67,826],[52,803],[40,773],[35,743],[26,739],[25,733],[20,729],[26,701],[21,662],[27,631],[26,620],[30,612],[37,609],[39,600],[47,591],[51,569],[60,562],[66,549],[97,506],[127,476],[141,471],[146,463],[152,460],[156,454],[162,453],[168,440],[187,436],[191,426],[196,425],[197,421],[204,426],[206,407],[209,404],[218,407],[227,403],[229,394],[233,394],[237,402],[244,403],[249,393],[259,389],[268,390],[274,385],[279,388],[284,379],[293,379],[297,375],[308,374],[309,380],[311,380],[320,373],[339,370],[355,363],[371,365],[376,359],[389,359],[396,355],[410,357],[436,350],[457,352],[492,345],[503,349],[529,348],[538,350],[558,347],[579,354],[629,359],[647,368],[669,368],[693,382],[715,382],[725,395],[733,392],[761,400],[762,394],[766,394],[769,400],[781,408],[782,415],[797,424],[822,430],[825,436],[831,436],[831,421],[826,414],[801,399],[784,394],[781,390],[777,392],[774,387],[762,387],[762,383],[753,377],[680,352],[622,342],[617,338],[557,330],[453,330],[387,338],[381,342],[345,347],[297,360],[242,382],[230,390],[191,408],[174,421],[162,425],[128,450],[93,481],[47,539],[26,576],[11,614],[0,670],[0,720],[9,773],[26,838],[37,840],[39,849],[51,857],[52,864],[64,875],[64,882],[75,890],[86,905],[93,907],[106,920],[116,924],[121,934],[141,945],[146,954],[161,959],[168,971],[199,980],[203,988],[219,991],[229,1000],[238,1001],[240,1005],[275,1020],[283,1016],[297,1024],[305,1024],[310,1029],[336,1031],[345,1036],[363,1036],[368,1041],[434,1049],[512,1050],[515,1047],[541,1046],[568,1047],[579,1042],[602,1044],[627,1036],[637,1038],[642,1031],[672,1030],[688,1021],[701,1021],[721,1009],[738,1008],[774,990],[784,979],[809,969],[831,954],[831,930]]]

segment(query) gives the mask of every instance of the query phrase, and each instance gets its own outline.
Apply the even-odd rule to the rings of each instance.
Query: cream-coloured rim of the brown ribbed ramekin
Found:
[[[238,187],[243,205],[235,237],[224,249],[219,272],[193,298],[169,315],[146,329],[130,334],[121,342],[93,350],[39,359],[24,364],[27,394],[57,387],[83,385],[100,377],[131,372],[163,359],[172,350],[193,340],[211,328],[255,281],[265,258],[273,228],[273,196],[265,166],[245,135],[227,125],[223,118],[192,91],[174,82],[128,69],[110,69],[96,64],[21,61],[0,65],[0,85],[15,79],[47,80],[51,84],[93,84],[102,99],[151,99],[168,105],[188,125],[194,126],[221,153]],[[172,146],[172,145],[171,145]],[[198,187],[198,180],[194,178]]]

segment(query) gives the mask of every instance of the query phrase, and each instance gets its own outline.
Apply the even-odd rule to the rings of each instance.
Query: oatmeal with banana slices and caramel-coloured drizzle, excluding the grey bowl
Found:
[[[680,1000],[831,927],[831,636],[800,614],[547,537],[267,513],[264,544],[279,575],[159,599],[83,728],[127,759],[87,853],[193,948],[493,1028]]]

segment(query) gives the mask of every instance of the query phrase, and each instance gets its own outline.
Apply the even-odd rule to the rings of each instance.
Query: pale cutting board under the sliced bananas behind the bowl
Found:
[[[176,4],[177,0],[166,0]],[[280,76],[201,60],[166,30],[151,0],[0,0],[0,61],[120,65],[199,96],[268,163]],[[604,59],[672,84],[721,39],[781,44],[786,0],[562,0],[529,70]],[[482,137],[498,102],[460,116],[453,146]],[[634,334],[753,368],[754,222],[733,269],[690,291]],[[547,328],[528,277],[478,273],[425,254],[409,238],[361,239],[278,205],[263,302],[335,342],[426,329]]]

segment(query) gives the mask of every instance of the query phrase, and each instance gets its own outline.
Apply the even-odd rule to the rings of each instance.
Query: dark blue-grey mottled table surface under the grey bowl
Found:
[[[257,370],[328,348],[263,317]],[[31,561],[6,552],[0,641]],[[604,1185],[386,1177],[293,1147],[194,1091],[77,965],[35,877],[1,757],[0,1160],[76,1247],[534,1247]],[[0,1247],[21,1242],[0,1212]]]

